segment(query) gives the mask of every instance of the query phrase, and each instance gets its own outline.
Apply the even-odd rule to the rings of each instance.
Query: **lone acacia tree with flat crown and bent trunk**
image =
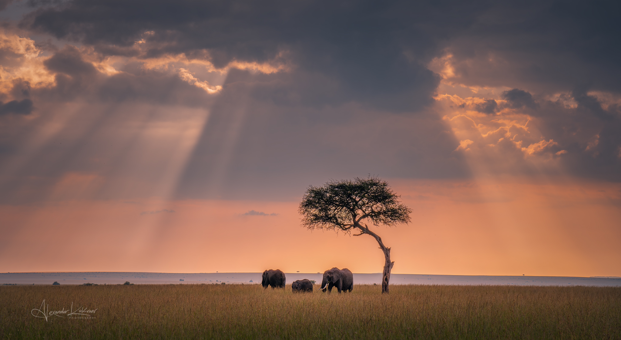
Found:
[[[324,229],[359,232],[353,236],[371,235],[384,252],[386,263],[382,276],[382,293],[388,293],[388,282],[394,262],[390,261],[390,249],[382,239],[369,229],[365,221],[375,226],[394,226],[409,223],[412,210],[399,202],[386,181],[377,177],[359,178],[353,181],[330,181],[322,187],[309,186],[306,190],[299,213],[302,226],[308,229]]]

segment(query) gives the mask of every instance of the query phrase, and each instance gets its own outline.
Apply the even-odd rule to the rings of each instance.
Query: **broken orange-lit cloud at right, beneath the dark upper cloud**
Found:
[[[479,171],[486,167],[487,174],[569,172],[619,181],[621,112],[617,104],[604,109],[596,96],[575,92],[538,102],[519,89],[501,96],[505,101],[497,106],[502,109],[493,115],[481,110],[487,101],[438,96],[450,111],[446,122],[461,140],[455,151],[468,151],[471,167]],[[567,103],[570,99],[572,104]]]

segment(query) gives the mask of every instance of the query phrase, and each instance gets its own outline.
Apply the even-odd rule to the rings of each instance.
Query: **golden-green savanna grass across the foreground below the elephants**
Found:
[[[319,286],[315,285],[315,288]],[[1,339],[621,339],[621,287],[0,287]],[[90,319],[36,318],[83,306]],[[37,314],[37,311],[34,311]],[[42,314],[39,314],[42,315]]]

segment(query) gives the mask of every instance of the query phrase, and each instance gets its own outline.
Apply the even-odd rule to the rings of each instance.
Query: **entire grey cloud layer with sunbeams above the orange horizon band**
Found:
[[[0,1],[0,204],[138,202],[139,235],[369,174],[621,182],[619,6]]]

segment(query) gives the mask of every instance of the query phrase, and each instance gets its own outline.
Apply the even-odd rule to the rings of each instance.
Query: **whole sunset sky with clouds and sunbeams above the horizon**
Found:
[[[0,272],[621,276],[612,1],[0,0]]]

